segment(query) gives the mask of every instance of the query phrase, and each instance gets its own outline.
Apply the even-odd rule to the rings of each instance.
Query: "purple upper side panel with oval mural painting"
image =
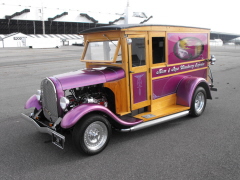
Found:
[[[208,58],[207,33],[168,33],[168,64]]]

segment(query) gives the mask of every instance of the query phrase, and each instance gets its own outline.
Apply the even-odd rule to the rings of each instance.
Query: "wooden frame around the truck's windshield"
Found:
[[[106,42],[108,41],[109,43],[113,43],[112,41],[118,41],[117,44],[113,43],[116,46],[115,52],[114,52],[114,57],[112,60],[86,60],[85,55],[88,49],[88,45],[90,42]],[[113,38],[113,39],[94,39],[94,40],[87,40],[86,41],[86,45],[84,47],[83,53],[82,53],[82,57],[81,57],[81,62],[107,62],[107,63],[116,63],[117,61],[117,57],[118,57],[118,53],[119,53],[119,49],[121,46],[121,38]],[[122,53],[122,52],[121,52]]]

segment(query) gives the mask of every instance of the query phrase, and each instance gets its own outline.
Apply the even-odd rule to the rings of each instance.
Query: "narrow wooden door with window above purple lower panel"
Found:
[[[150,105],[148,36],[129,35],[128,45],[131,110]]]

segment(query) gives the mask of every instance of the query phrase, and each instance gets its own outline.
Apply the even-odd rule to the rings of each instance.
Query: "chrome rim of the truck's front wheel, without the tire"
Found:
[[[100,121],[90,124],[84,132],[84,143],[90,150],[98,150],[107,141],[108,130],[104,123]]]

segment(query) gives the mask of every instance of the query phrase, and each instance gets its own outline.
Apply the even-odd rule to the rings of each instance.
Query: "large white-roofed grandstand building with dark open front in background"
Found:
[[[125,13],[0,4],[0,34],[77,34],[92,27],[124,24]],[[149,23],[152,16],[128,7],[129,23]]]

